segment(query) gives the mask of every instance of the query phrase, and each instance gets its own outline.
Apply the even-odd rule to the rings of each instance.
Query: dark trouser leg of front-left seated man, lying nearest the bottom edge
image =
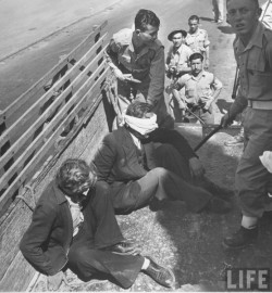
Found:
[[[95,275],[113,279],[125,289],[135,282],[144,264],[143,256],[94,250],[88,242],[73,243],[67,257],[69,268],[82,280],[89,281]]]

